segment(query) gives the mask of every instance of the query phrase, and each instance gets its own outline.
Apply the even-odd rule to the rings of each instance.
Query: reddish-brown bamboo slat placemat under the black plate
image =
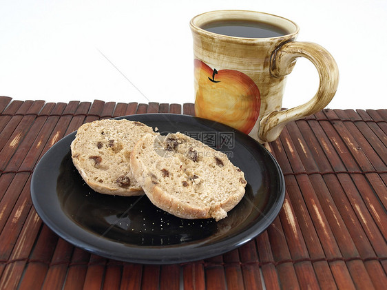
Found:
[[[85,122],[193,114],[193,104],[45,103],[0,97],[0,289],[386,289],[387,110],[324,110],[266,144],[286,198],[263,234],[176,265],[109,260],[73,247],[37,216],[41,156]]]

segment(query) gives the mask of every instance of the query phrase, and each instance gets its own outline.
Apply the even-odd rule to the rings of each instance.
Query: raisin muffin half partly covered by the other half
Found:
[[[125,119],[85,123],[72,141],[72,161],[94,191],[118,196],[143,194],[130,170],[129,158],[145,134],[156,133],[143,123]]]

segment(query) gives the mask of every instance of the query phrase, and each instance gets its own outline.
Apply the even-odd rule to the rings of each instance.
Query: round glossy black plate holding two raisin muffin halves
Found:
[[[48,227],[76,247],[105,258],[145,264],[188,262],[216,256],[248,242],[268,227],[284,201],[284,176],[273,156],[231,127],[178,114],[125,116],[158,132],[182,132],[225,152],[242,169],[246,194],[215,222],[177,218],[146,196],[98,194],[72,164],[65,136],[41,158],[31,181],[34,207]]]

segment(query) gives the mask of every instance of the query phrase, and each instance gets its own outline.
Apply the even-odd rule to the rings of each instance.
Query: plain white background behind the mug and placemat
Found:
[[[189,20],[210,10],[278,14],[339,66],[337,109],[387,107],[386,0],[0,1],[0,95],[53,102],[193,103]],[[306,102],[317,72],[299,59],[283,107]]]

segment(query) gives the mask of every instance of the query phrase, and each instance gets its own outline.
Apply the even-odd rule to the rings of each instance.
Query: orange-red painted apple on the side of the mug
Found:
[[[216,70],[195,59],[195,115],[224,123],[246,134],[260,114],[260,90],[238,70]]]

